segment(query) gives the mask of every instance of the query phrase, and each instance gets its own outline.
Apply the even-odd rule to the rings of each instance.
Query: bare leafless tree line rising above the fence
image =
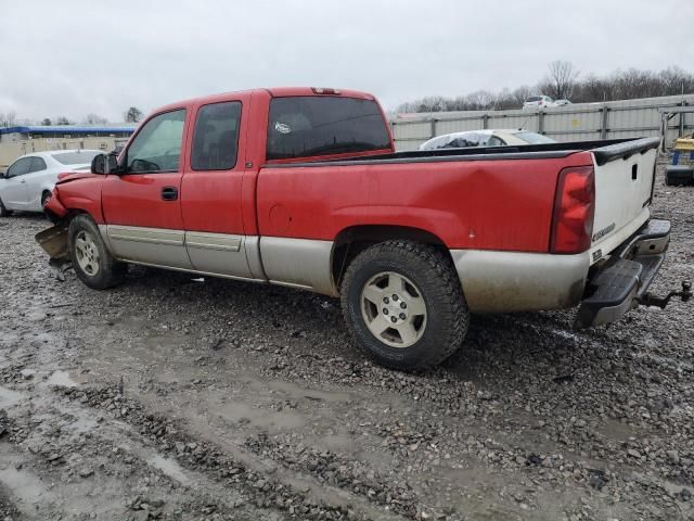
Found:
[[[520,109],[530,96],[549,96],[571,103],[592,103],[694,92],[694,75],[677,66],[659,72],[629,68],[606,76],[588,74],[581,77],[570,62],[554,61],[547,75],[536,86],[524,85],[499,92],[477,90],[449,98],[428,96],[398,105],[396,112],[504,111]]]

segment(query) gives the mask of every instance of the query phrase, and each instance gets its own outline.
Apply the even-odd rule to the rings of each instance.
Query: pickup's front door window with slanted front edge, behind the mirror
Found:
[[[184,109],[159,114],[145,123],[127,150],[127,171],[178,170],[184,123]]]

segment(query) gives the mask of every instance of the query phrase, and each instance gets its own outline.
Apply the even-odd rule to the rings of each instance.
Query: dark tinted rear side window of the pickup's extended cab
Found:
[[[191,167],[194,170],[229,170],[236,165],[241,102],[201,106],[195,118]]]

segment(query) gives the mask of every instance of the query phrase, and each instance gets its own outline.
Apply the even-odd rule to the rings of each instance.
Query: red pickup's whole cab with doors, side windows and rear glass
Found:
[[[79,190],[118,258],[265,281],[256,215],[261,165],[393,151],[385,115],[371,94],[320,88],[232,92],[160,107],[111,171],[82,181]],[[69,201],[67,181],[62,201]],[[283,213],[278,205],[269,218],[288,218]]]

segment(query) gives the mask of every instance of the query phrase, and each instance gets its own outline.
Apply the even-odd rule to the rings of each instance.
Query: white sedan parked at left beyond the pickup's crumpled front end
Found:
[[[0,217],[41,212],[62,171],[89,170],[100,150],[53,150],[23,155],[0,177]]]

